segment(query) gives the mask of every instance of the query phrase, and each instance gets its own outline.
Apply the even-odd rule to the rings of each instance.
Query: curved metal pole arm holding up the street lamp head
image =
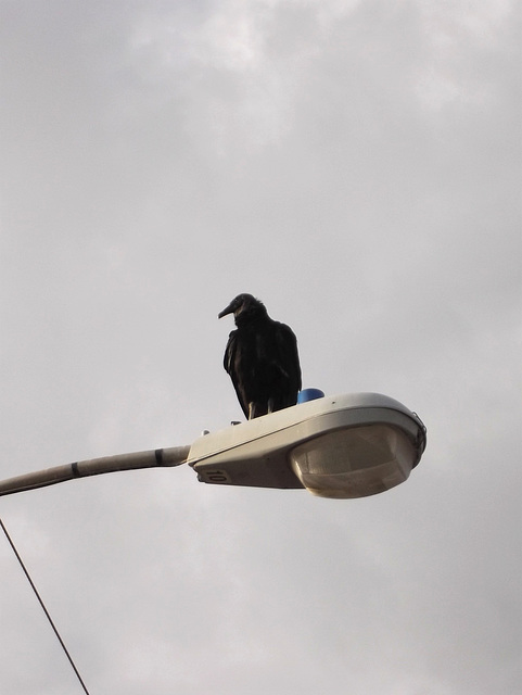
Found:
[[[136,470],[138,468],[154,468],[157,466],[166,468],[180,466],[187,462],[189,452],[190,446],[171,446],[169,448],[155,448],[148,452],[90,458],[74,464],[47,468],[46,470],[37,470],[24,476],[0,481],[0,496],[54,485],[59,482],[73,480],[74,478],[99,476],[117,470]]]

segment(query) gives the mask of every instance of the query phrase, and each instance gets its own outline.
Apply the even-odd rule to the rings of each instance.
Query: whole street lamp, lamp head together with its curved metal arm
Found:
[[[0,481],[0,495],[187,463],[209,484],[306,488],[321,497],[364,497],[407,480],[425,448],[425,431],[415,413],[389,396],[322,396],[204,433],[191,446],[94,458]]]

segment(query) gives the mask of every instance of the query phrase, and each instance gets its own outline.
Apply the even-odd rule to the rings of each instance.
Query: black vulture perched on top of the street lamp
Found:
[[[272,320],[252,294],[239,294],[218,318],[227,314],[233,314],[238,328],[229,336],[224,367],[246,418],[295,405],[301,366],[291,328]]]

